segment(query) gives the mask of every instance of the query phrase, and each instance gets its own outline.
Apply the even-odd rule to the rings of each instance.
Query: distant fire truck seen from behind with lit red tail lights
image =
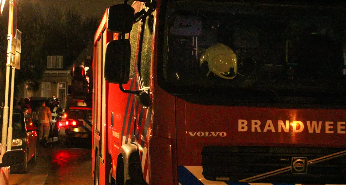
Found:
[[[91,139],[92,126],[92,92],[90,89],[88,68],[84,64],[73,65],[70,95],[67,96],[66,113],[59,123],[65,128],[67,142],[71,139]]]

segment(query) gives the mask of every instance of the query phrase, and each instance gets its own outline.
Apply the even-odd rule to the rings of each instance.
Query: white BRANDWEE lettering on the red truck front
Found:
[[[324,129],[322,129],[324,125]],[[299,133],[304,130],[308,130],[309,133],[338,133],[345,134],[346,123],[345,122],[332,122],[332,121],[289,121],[289,120],[279,120],[273,122],[272,120],[267,120],[265,123],[261,124],[260,120],[238,120],[238,131],[246,132],[251,130],[251,132],[294,132]],[[291,127],[291,129],[290,129]]]

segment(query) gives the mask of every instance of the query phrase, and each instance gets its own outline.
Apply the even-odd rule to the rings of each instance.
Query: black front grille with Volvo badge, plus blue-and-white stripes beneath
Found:
[[[201,155],[201,165],[178,163],[181,185],[346,184],[345,148],[205,146]]]

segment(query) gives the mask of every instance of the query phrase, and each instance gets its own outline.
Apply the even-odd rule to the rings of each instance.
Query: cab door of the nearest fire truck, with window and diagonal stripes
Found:
[[[146,10],[148,8],[143,7]],[[136,95],[135,98],[135,114],[134,114],[134,126],[135,126],[135,140],[139,146],[139,156],[142,163],[142,172],[146,182],[149,180],[148,173],[148,139],[149,131],[151,130],[151,90],[152,90],[152,54],[153,54],[153,25],[155,12],[145,17],[144,23],[141,21],[140,25],[140,37],[139,38],[139,52],[140,59],[137,59],[137,87],[139,90],[144,90],[143,96]],[[138,57],[138,56],[137,56]]]

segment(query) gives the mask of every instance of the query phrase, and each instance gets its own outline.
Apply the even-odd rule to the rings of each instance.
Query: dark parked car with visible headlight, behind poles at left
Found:
[[[1,114],[2,115],[2,114]],[[13,166],[20,173],[27,173],[28,162],[36,161],[37,157],[37,127],[34,125],[31,114],[26,109],[14,109],[12,115],[12,150],[25,151],[24,159],[18,166]],[[2,117],[0,118],[0,130],[2,131]]]

